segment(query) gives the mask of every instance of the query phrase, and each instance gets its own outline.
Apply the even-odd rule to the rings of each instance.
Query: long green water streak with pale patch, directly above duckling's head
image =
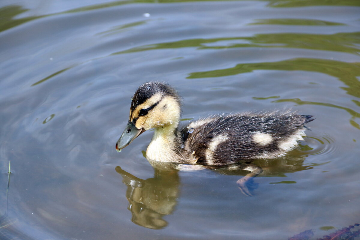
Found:
[[[239,43],[237,43],[237,40]],[[229,43],[226,44],[226,41]],[[219,42],[219,45],[214,43]],[[212,44],[208,46],[207,44]],[[202,49],[230,49],[239,47],[269,47],[269,48],[296,48],[322,51],[338,51],[359,55],[360,32],[309,34],[309,33],[266,33],[252,37],[222,37],[213,39],[186,39],[174,42],[161,42],[132,47],[111,55],[136,53],[157,49],[173,49],[181,47],[196,47]]]

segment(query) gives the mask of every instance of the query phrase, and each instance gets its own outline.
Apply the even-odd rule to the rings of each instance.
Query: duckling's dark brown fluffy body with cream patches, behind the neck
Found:
[[[199,119],[183,130],[184,149],[206,165],[279,157],[302,140],[304,124],[314,120],[311,117],[275,112]]]

